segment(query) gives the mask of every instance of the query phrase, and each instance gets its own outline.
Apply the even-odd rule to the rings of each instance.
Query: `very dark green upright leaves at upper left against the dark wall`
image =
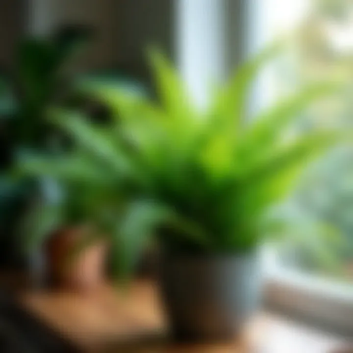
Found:
[[[65,26],[48,38],[28,37],[19,45],[11,77],[16,114],[10,132],[17,145],[48,145],[53,127],[46,111],[71,93],[67,65],[89,38],[87,28]]]

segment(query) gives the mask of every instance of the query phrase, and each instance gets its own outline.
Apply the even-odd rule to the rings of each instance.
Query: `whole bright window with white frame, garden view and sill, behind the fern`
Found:
[[[177,41],[179,65],[201,103],[207,101],[210,81],[227,76],[230,66],[263,47],[274,35],[295,28],[301,30],[295,31],[286,54],[260,77],[251,113],[297,85],[332,77],[353,78],[352,0],[177,3],[178,26],[182,28]],[[301,120],[295,132],[310,128],[310,124],[322,128],[352,125],[352,104],[349,94],[321,101],[310,108],[303,117],[309,119]],[[291,239],[296,241],[264,252],[268,303],[351,332],[352,157],[351,148],[342,148],[305,173],[298,190],[280,208],[282,217],[293,225],[295,236]],[[343,242],[337,241],[339,236]]]

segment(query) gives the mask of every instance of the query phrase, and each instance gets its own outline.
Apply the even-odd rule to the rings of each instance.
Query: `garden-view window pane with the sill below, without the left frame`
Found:
[[[302,14],[288,53],[271,71],[273,95],[299,84],[353,78],[353,2],[287,0],[283,9],[266,0],[267,32],[274,33],[290,14]],[[278,2],[278,1],[277,1]],[[271,7],[272,5],[272,7]],[[277,8],[276,11],[272,11]],[[282,11],[282,12],[279,12]],[[266,25],[265,25],[266,26]],[[268,87],[268,86],[267,86]],[[297,131],[352,126],[350,92],[311,107]],[[309,125],[308,125],[309,124]],[[353,148],[337,148],[302,177],[298,190],[280,207],[293,237],[268,254],[270,303],[321,323],[353,331]]]

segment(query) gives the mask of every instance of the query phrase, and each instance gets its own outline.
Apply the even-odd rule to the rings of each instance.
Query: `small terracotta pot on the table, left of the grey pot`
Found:
[[[88,291],[104,280],[106,244],[90,244],[80,252],[76,247],[87,234],[87,227],[71,227],[57,231],[47,247],[50,282],[58,287]]]

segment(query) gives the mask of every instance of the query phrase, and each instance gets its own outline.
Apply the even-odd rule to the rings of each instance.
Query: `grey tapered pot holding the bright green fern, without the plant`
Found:
[[[161,291],[174,338],[234,339],[258,309],[259,257],[168,255],[161,263]]]

